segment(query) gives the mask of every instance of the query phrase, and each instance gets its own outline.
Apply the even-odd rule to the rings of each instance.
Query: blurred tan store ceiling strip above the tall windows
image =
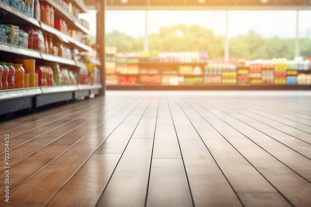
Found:
[[[112,10],[288,10],[311,9],[311,0],[102,0]],[[95,0],[87,1],[95,4]],[[93,6],[93,8],[95,8]]]

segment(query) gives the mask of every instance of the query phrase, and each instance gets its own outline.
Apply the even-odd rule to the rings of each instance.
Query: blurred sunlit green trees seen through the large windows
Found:
[[[179,34],[179,35],[178,35]],[[124,33],[113,31],[106,35],[106,46],[118,47],[118,52],[138,52],[143,50],[143,38],[135,39]],[[285,57],[293,60],[295,57],[295,42],[293,39],[262,38],[253,34],[240,35],[229,41],[230,58],[245,58],[246,60],[272,59]],[[176,25],[160,28],[159,34],[149,36],[149,50],[167,50],[169,52],[193,52],[205,50],[209,58],[223,59],[225,37],[216,36],[211,29],[198,25]],[[311,40],[300,39],[301,56],[311,56]]]

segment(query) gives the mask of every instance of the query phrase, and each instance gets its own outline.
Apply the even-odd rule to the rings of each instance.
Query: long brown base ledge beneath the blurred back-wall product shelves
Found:
[[[196,84],[196,85],[162,85],[162,84],[137,84],[137,85],[107,85],[107,90],[299,90],[304,85],[298,84]],[[311,87],[304,87],[311,90]]]

